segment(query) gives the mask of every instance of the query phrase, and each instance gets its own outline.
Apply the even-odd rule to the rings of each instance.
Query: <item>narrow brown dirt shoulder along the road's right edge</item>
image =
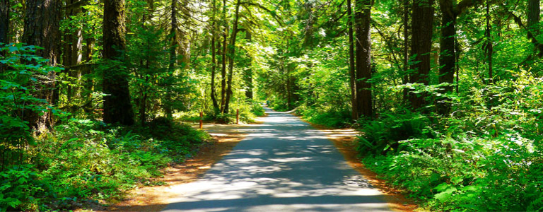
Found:
[[[291,114],[302,119],[293,112],[291,112]],[[303,121],[307,122],[305,120]],[[414,211],[416,208],[418,208],[413,201],[405,198],[401,191],[388,185],[385,180],[378,178],[375,172],[368,170],[364,166],[364,164],[358,158],[358,152],[356,152],[356,136],[360,134],[359,131],[356,131],[355,129],[329,129],[326,126],[319,124],[313,124],[310,122],[307,123],[311,124],[311,126],[313,126],[315,129],[319,129],[320,131],[326,133],[327,138],[334,143],[334,146],[336,146],[339,152],[344,156],[347,163],[356,171],[360,172],[361,175],[366,177],[373,187],[378,188],[381,192],[383,192],[383,194],[385,194],[385,199],[390,204],[392,210]]]

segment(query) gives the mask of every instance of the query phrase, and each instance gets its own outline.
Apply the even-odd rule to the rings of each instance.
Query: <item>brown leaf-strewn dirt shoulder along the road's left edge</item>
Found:
[[[170,203],[170,199],[178,197],[180,189],[177,185],[193,182],[211,168],[214,163],[227,155],[234,146],[247,135],[244,127],[253,124],[224,125],[204,124],[204,130],[214,138],[214,142],[206,143],[197,155],[185,163],[166,168],[163,177],[155,179],[165,185],[154,187],[138,187],[127,194],[127,199],[104,208],[103,211],[160,211]],[[101,211],[101,210],[97,210]]]

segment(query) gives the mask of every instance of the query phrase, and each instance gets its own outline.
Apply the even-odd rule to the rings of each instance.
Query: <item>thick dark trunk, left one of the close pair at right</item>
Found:
[[[411,65],[414,73],[409,76],[409,83],[428,85],[430,73],[430,52],[433,32],[433,0],[414,0],[411,22],[411,57],[416,61]],[[419,109],[426,104],[426,94],[409,94],[411,107]]]

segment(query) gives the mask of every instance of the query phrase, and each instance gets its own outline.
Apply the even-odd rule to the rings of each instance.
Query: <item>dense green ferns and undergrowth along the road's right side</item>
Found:
[[[397,110],[362,121],[363,163],[431,211],[543,211],[542,79],[515,74],[450,96],[450,117]]]

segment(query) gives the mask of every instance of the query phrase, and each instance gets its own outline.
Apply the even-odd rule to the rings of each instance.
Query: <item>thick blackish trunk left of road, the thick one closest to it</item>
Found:
[[[104,122],[134,124],[134,110],[128,88],[129,73],[123,67],[126,49],[126,27],[124,23],[124,0],[104,0],[104,58],[112,66],[104,71],[103,92]]]

